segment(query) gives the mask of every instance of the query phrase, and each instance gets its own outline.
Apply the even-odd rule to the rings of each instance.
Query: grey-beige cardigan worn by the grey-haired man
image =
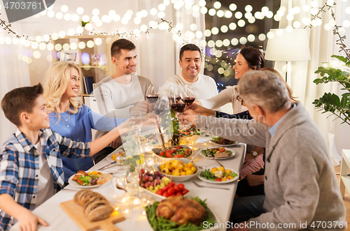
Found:
[[[314,230],[319,222],[324,227],[324,221],[329,230],[344,230],[339,222],[345,225],[346,210],[328,149],[301,103],[281,119],[273,137],[269,126],[254,120],[198,115],[196,126],[230,140],[266,147],[266,213],[250,221],[270,225],[250,230],[282,230],[277,228],[279,223],[295,224],[295,228],[283,230],[300,230],[304,223],[308,230]]]

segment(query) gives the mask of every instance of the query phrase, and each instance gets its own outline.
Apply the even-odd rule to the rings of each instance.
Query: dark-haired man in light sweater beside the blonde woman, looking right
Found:
[[[137,66],[136,47],[132,41],[120,38],[111,45],[111,61],[116,66],[116,73],[105,77],[94,89],[99,113],[114,118],[129,118],[130,112],[147,113],[146,92],[152,85],[146,77],[135,75]],[[102,137],[106,132],[97,131],[95,138]],[[121,140],[115,140],[111,147],[96,154],[97,161],[104,158],[113,149],[119,147]],[[95,159],[96,160],[96,159]]]

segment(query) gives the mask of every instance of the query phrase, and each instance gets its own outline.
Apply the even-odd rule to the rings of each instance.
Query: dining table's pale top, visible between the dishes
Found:
[[[193,148],[193,152],[200,148],[207,149],[212,147],[219,147],[218,145],[209,142],[211,137],[212,136],[200,136],[196,142],[190,143],[189,146]],[[235,146],[226,148],[234,151],[235,156],[223,160],[219,159],[219,162],[224,167],[229,167],[236,172],[240,172],[246,153],[246,144],[239,143]],[[102,161],[94,165],[89,171],[91,172],[94,170],[99,170],[109,163],[111,162],[107,160],[107,158],[104,158]],[[193,160],[193,163],[200,167],[220,167],[216,161],[213,159],[204,158],[202,155],[197,155]],[[126,171],[123,172],[124,169],[125,168],[123,168],[123,166],[116,165],[114,167],[109,167],[108,169],[104,170],[104,172],[109,172],[112,174],[126,174]],[[106,184],[97,188],[91,189],[92,191],[104,195],[104,197],[110,200],[111,204],[113,205],[113,203],[116,201],[116,197],[122,195],[124,191],[118,189],[116,190],[116,188],[113,188],[111,182],[112,181],[107,182]],[[204,187],[198,187],[194,184],[194,182]],[[217,230],[226,230],[225,224],[226,222],[230,221],[230,212],[235,199],[237,182],[238,180],[227,184],[215,184],[215,182],[207,183],[199,179],[196,174],[190,180],[181,183],[183,183],[185,188],[190,191],[188,195],[189,197],[199,197],[201,200],[206,200],[208,208],[211,209],[213,214],[215,214],[218,218]],[[176,184],[178,183],[180,182],[176,182]],[[209,188],[208,186],[213,188]],[[229,188],[229,190],[224,190],[222,188]],[[33,214],[43,218],[43,220],[48,223],[47,227],[38,225],[38,230],[81,230],[79,226],[61,209],[61,207],[59,207],[60,203],[66,202],[68,200],[73,200],[73,196],[80,189],[81,188],[76,188],[69,184],[61,191],[53,195],[50,199],[43,202],[43,204],[36,207],[36,209],[32,211]],[[154,200],[160,201],[159,198],[154,198]],[[151,225],[148,223],[144,208],[131,209],[130,211],[123,212],[122,214],[125,216],[125,221],[115,223],[116,227],[119,230],[153,230]],[[18,223],[13,225],[13,228],[11,230],[19,230]]]

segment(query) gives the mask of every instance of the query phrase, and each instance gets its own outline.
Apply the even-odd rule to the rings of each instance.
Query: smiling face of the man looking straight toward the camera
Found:
[[[197,50],[185,50],[179,64],[182,68],[181,74],[185,80],[188,82],[196,82],[198,80],[200,68],[202,67],[200,52]]]

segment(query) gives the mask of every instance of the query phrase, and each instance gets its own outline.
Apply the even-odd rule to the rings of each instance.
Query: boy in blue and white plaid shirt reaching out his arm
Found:
[[[13,89],[1,100],[1,108],[6,118],[18,126],[0,150],[1,228],[9,230],[15,220],[21,230],[36,230],[37,223],[48,226],[31,210],[63,187],[61,156],[93,156],[120,133],[116,129],[84,143],[51,131],[41,84]]]

